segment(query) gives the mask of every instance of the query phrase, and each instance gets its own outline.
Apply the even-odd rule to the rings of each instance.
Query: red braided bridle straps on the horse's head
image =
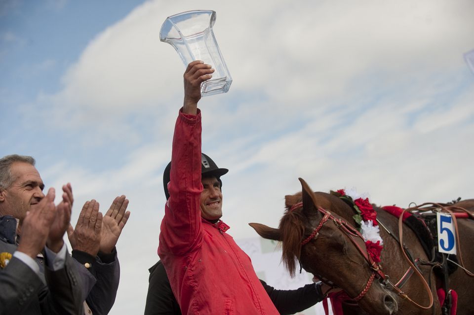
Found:
[[[290,208],[290,212],[297,208],[301,208],[302,206],[303,206],[303,203],[299,202]],[[312,240],[316,240],[316,238],[319,236],[319,230],[327,222],[334,223],[334,225],[336,225],[337,228],[339,228],[346,236],[348,236],[352,244],[356,246],[358,252],[362,255],[362,257],[365,259],[365,261],[367,262],[367,264],[369,265],[371,269],[371,275],[369,279],[365,282],[364,288],[362,289],[362,291],[360,291],[360,293],[355,298],[352,298],[353,300],[358,301],[361,298],[363,298],[364,295],[367,293],[367,291],[370,289],[370,286],[372,285],[375,277],[377,277],[379,280],[382,280],[382,281],[385,281],[388,277],[382,272],[380,265],[376,263],[372,259],[372,257],[368,254],[365,246],[364,246],[364,249],[362,249],[361,246],[357,244],[356,242],[357,238],[361,239],[364,244],[365,244],[365,241],[364,241],[364,238],[362,237],[362,234],[360,234],[360,232],[357,231],[356,228],[354,228],[351,224],[349,224],[347,221],[343,220],[342,218],[335,217],[334,215],[331,214],[331,212],[327,210],[324,210],[322,208],[317,208],[317,210],[321,214],[323,214],[323,217],[321,221],[319,221],[319,224],[316,226],[313,232],[310,234],[310,236],[308,236],[305,240],[301,242],[301,246],[308,244]]]

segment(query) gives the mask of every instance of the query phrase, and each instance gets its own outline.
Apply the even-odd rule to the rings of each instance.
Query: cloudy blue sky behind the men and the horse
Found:
[[[185,70],[159,29],[193,9],[217,12],[234,80],[199,107],[236,239],[276,226],[298,177],[379,205],[474,197],[473,1],[0,1],[0,155],[71,182],[73,221],[86,200],[130,200],[112,314],[143,313],[158,259]]]

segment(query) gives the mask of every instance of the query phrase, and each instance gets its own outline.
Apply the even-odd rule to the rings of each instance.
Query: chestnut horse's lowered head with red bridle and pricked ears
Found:
[[[299,262],[316,278],[342,288],[368,314],[394,314],[394,293],[374,281],[376,270],[367,261],[366,251],[364,255],[363,239],[354,237],[356,229],[336,214],[345,203],[314,193],[301,178],[300,182],[302,193],[285,196],[286,211],[277,229],[259,223],[250,226],[261,237],[282,243],[283,265],[291,277]]]

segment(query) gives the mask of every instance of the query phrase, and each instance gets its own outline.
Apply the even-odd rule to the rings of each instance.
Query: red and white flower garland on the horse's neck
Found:
[[[331,191],[332,195],[338,196],[346,203],[351,204],[356,210],[356,215],[353,216],[356,223],[360,226],[359,232],[365,240],[365,247],[372,259],[380,262],[380,254],[384,248],[384,242],[380,237],[379,224],[377,223],[377,212],[369,202],[369,198],[364,195],[359,195],[354,189]],[[365,198],[364,198],[365,197]]]

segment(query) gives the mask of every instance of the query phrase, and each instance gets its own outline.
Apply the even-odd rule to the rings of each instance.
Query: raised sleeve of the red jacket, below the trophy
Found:
[[[174,129],[169,199],[161,222],[159,250],[183,255],[200,246],[201,114],[181,110]],[[164,244],[162,244],[164,243]],[[164,246],[162,246],[164,245]]]

